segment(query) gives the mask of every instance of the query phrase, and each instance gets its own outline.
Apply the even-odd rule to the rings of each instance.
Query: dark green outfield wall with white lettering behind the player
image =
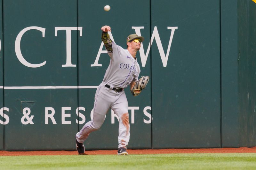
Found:
[[[110,5],[111,10],[103,10]],[[150,81],[129,103],[129,149],[255,146],[252,0],[0,0],[0,150],[75,150],[108,68],[101,26]],[[117,116],[84,142],[116,149]]]

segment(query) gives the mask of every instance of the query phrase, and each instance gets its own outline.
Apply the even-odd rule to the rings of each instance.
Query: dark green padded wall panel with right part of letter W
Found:
[[[220,2],[152,0],[151,18],[153,148],[220,147]]]

